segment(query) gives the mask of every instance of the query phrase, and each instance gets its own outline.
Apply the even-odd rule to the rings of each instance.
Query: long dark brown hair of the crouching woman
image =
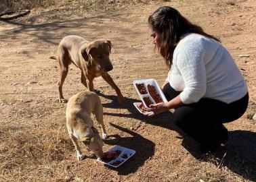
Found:
[[[159,7],[148,17],[148,24],[153,31],[161,34],[162,40],[158,51],[169,69],[173,62],[173,51],[183,34],[201,34],[220,42],[215,36],[205,33],[200,26],[192,24],[173,7]]]

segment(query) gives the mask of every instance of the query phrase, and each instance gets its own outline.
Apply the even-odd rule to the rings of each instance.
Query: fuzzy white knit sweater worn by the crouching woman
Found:
[[[202,97],[230,103],[247,94],[244,78],[228,51],[199,34],[188,34],[179,41],[167,81],[176,91],[182,91],[184,104]]]

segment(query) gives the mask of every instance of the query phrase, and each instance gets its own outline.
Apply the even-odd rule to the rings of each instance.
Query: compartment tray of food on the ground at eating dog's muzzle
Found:
[[[135,153],[135,150],[131,150],[123,146],[113,146],[108,150],[108,152],[104,152],[104,156],[102,158],[98,158],[97,160],[108,166],[117,168],[131,158]]]

